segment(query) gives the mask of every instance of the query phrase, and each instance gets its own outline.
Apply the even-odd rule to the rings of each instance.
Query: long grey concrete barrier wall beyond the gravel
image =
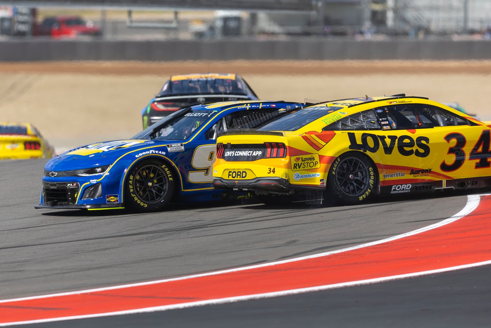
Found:
[[[343,39],[118,41],[6,39],[0,61],[489,60],[491,41]]]

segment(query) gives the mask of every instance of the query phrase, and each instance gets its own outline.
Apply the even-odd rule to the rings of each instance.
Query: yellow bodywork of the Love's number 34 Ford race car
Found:
[[[225,161],[223,158],[218,158],[213,165],[213,176],[234,180],[228,178],[226,172],[249,169],[254,177],[288,179],[292,187],[295,185],[326,187],[332,163],[338,156],[349,151],[364,153],[370,157],[377,167],[381,186],[441,180],[445,187],[445,180],[449,179],[491,176],[491,151],[489,149],[491,125],[424,98],[376,97],[369,100],[380,101],[364,102],[363,99],[347,99],[317,104],[315,105],[317,107],[337,106],[342,109],[315,119],[297,131],[278,131],[282,132],[283,136],[246,133],[219,136],[217,143],[224,145],[228,143],[232,145],[284,143],[288,151],[284,158],[261,158],[254,161]],[[435,126],[404,130],[322,130],[331,122],[357,112],[384,105],[405,103],[434,105],[468,119],[476,125]],[[353,104],[358,105],[348,107]],[[461,143],[458,144],[458,141]],[[464,145],[463,141],[465,141]],[[354,148],[356,144],[363,145],[367,150]],[[465,156],[461,156],[462,151]],[[456,154],[459,155],[459,158]],[[313,163],[317,158],[319,158],[319,163],[311,168],[293,167],[298,163]],[[272,168],[275,169],[274,173]],[[300,179],[294,179],[296,173],[300,174],[300,176],[297,175],[297,178],[300,177]]]

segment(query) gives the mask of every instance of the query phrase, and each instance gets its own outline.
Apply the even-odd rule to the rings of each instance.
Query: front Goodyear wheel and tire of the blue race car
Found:
[[[164,209],[174,196],[175,177],[168,164],[158,159],[138,162],[126,179],[126,207],[137,212]]]

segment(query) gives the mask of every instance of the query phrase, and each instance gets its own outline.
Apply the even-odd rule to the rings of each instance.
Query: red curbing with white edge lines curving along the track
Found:
[[[77,292],[0,300],[0,327],[320,291],[491,264],[490,195],[402,235],[295,259]],[[452,241],[449,244],[449,240]]]

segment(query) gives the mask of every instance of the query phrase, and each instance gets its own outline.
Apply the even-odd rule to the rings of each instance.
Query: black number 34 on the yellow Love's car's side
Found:
[[[450,147],[447,152],[447,154],[455,155],[455,159],[452,163],[447,163],[445,161],[441,162],[440,169],[444,172],[455,171],[464,164],[466,154],[463,148],[467,141],[463,134],[457,132],[447,134],[444,139],[449,144],[452,140],[456,141],[455,146]],[[479,140],[470,151],[469,160],[477,160],[475,168],[482,169],[490,167],[490,158],[490,130],[484,130],[481,133]]]

